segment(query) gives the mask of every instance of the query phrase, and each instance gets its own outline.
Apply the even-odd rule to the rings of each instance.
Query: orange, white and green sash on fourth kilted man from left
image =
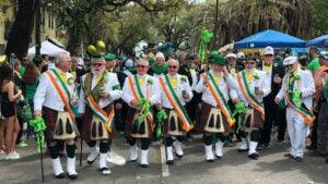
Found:
[[[164,78],[165,77],[165,78]],[[176,96],[167,75],[165,76],[160,76],[159,77],[160,81],[160,85],[164,91],[165,97],[168,99],[171,106],[174,108],[175,112],[177,113],[178,118],[180,119],[180,121],[183,122],[183,130],[186,132],[189,132],[194,125],[191,120],[189,119],[185,108],[183,107],[183,105],[180,103],[178,97]],[[165,85],[165,82],[167,84],[167,86]]]

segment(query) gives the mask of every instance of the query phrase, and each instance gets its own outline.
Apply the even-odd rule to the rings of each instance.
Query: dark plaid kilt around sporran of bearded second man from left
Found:
[[[109,106],[103,108],[103,110],[108,114],[112,106],[114,106],[114,105],[109,105]],[[81,138],[83,138],[86,142],[92,140],[91,139],[92,118],[93,118],[93,113],[92,113],[91,109],[87,106],[85,106],[85,112],[84,112],[82,121],[81,121],[82,124],[79,126],[80,127],[79,131],[80,131]],[[114,121],[114,119],[113,119],[113,121]],[[108,134],[109,134],[109,138],[113,138],[114,130],[112,130],[112,133],[108,133]]]

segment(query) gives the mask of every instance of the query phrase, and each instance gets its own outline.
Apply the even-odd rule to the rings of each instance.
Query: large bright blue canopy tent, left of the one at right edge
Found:
[[[235,42],[234,48],[265,48],[267,46],[271,46],[273,48],[305,48],[305,44],[306,41],[296,37],[283,34],[281,32],[268,29]]]

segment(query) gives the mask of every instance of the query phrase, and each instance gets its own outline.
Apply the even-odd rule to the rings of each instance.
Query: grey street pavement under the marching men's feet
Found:
[[[274,140],[272,140],[274,143]],[[36,145],[30,139],[28,147],[17,148],[21,159],[0,161],[1,184],[39,184],[42,169]],[[138,143],[140,144],[140,143]],[[140,147],[140,146],[139,146]],[[174,165],[165,164],[163,145],[150,147],[147,169],[138,163],[127,162],[119,167],[109,164],[110,175],[101,175],[97,161],[86,164],[89,148],[84,144],[82,167],[79,165],[80,143],[77,150],[77,171],[79,177],[74,181],[68,177],[58,180],[52,175],[50,158],[44,158],[45,184],[324,184],[328,183],[328,164],[321,157],[305,152],[303,162],[283,157],[289,151],[289,143],[274,144],[270,149],[259,151],[258,160],[247,158],[247,152],[237,152],[237,146],[224,148],[224,156],[212,163],[204,161],[204,148],[201,138],[184,142],[185,156],[175,158]],[[115,152],[129,158],[129,146],[125,138],[113,140]],[[139,149],[140,150],[140,149]],[[61,158],[66,170],[66,158]]]

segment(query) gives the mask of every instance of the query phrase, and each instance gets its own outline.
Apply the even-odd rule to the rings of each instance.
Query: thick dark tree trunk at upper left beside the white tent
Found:
[[[20,0],[15,22],[10,29],[5,54],[21,58],[27,53],[34,25],[34,15],[39,0]]]

